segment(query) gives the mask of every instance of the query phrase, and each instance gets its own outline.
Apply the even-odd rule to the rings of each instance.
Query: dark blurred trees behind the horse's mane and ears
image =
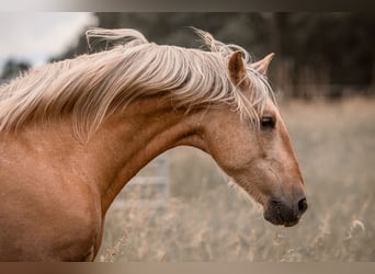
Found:
[[[134,27],[152,42],[200,47],[188,26],[247,48],[255,59],[276,58],[270,79],[284,95],[338,98],[373,94],[374,13],[95,13],[99,26]],[[88,53],[83,35],[76,47],[52,60]],[[26,64],[10,60],[2,78]],[[14,71],[13,71],[14,72]],[[8,73],[8,75],[7,75]]]

